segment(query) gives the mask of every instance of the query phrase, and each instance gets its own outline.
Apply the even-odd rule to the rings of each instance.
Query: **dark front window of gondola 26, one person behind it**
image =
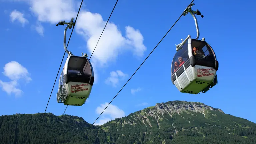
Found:
[[[205,41],[192,39],[192,53],[193,56],[199,59],[215,60],[211,48]]]

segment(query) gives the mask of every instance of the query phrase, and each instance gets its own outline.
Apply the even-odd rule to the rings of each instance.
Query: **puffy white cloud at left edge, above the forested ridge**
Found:
[[[17,88],[19,85],[18,80],[24,79],[27,83],[30,82],[32,79],[29,77],[28,70],[15,61],[5,64],[3,69],[4,72],[2,73],[12,81],[3,82],[0,80],[0,87],[2,87],[2,90],[7,94],[14,93],[15,96],[21,95],[23,91]]]

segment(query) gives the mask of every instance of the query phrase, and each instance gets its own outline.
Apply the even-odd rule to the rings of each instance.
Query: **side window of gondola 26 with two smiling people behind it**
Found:
[[[188,41],[175,54],[172,60],[172,74],[175,73],[188,60]]]

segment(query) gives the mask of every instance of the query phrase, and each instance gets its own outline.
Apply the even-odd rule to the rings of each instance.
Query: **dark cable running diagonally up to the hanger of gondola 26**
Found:
[[[176,20],[176,22],[172,25],[172,27],[167,31],[167,33],[164,35],[164,37],[158,42],[158,44],[155,46],[155,48],[150,52],[150,54],[146,57],[146,59],[141,63],[141,65],[137,68],[137,70],[133,73],[133,75],[129,78],[129,80],[124,84],[124,86],[120,89],[120,91],[114,96],[114,98],[110,101],[110,103],[116,98],[116,96],[121,92],[121,90],[125,87],[125,85],[130,81],[130,79],[134,76],[134,74],[139,70],[139,68],[143,65],[143,63],[148,59],[148,57],[153,53],[153,51],[156,49],[156,47],[162,42],[162,40],[165,38],[165,36],[169,33],[169,31],[174,27],[174,25],[179,21],[179,19],[182,17],[182,15],[185,13],[185,11],[188,9],[188,7],[193,3],[194,0],[191,1],[191,3],[187,6],[187,8],[183,11],[183,13],[180,15],[180,17]],[[110,105],[110,103],[106,106],[106,108],[102,111],[102,113],[107,109],[107,107]],[[102,115],[102,113],[98,116],[98,118]],[[93,124],[98,120],[98,118],[93,122]],[[92,124],[92,125],[93,125]],[[89,131],[89,129],[92,127],[92,125],[87,129],[87,131],[84,133],[84,135]],[[77,142],[77,144],[82,140],[84,135],[81,137],[81,139]]]

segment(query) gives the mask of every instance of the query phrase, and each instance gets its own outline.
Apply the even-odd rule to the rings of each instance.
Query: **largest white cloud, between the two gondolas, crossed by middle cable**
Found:
[[[106,22],[98,13],[80,12],[75,29],[87,41],[90,53],[93,52]],[[143,44],[142,34],[131,26],[125,28],[126,38],[113,22],[108,22],[93,53],[93,57],[101,66],[116,60],[123,51],[130,50],[136,56],[143,56],[146,47]]]

